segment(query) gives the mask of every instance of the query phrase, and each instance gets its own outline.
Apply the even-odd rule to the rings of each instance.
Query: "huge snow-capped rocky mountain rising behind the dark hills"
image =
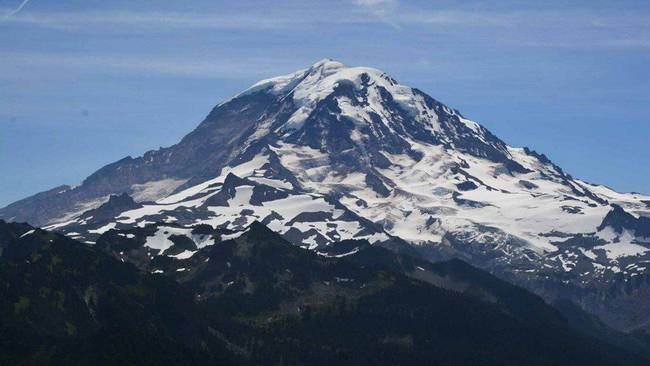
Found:
[[[89,242],[155,227],[141,243],[152,256],[191,256],[166,253],[178,236],[214,244],[201,225],[228,238],[254,221],[316,251],[408,243],[622,329],[650,325],[649,217],[650,196],[575,179],[380,70],[333,60],[256,83],[177,145],[0,210]]]

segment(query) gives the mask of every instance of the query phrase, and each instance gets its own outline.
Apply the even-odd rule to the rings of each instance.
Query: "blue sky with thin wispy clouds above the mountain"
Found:
[[[567,3],[0,0],[0,206],[171,145],[219,101],[325,57],[650,193],[650,2]]]

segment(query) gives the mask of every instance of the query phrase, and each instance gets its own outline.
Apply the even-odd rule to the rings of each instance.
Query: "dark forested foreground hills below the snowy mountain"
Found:
[[[460,261],[430,264],[362,242],[332,247],[354,246],[348,256],[317,254],[259,223],[169,263],[138,260],[131,240],[91,246],[0,222],[2,363],[648,362]],[[197,263],[178,267],[188,260]]]

